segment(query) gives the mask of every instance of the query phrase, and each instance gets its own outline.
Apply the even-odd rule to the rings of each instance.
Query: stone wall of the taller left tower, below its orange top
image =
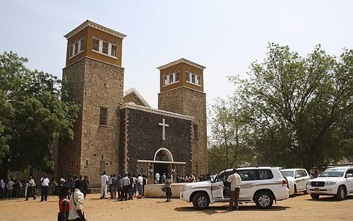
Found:
[[[80,104],[73,141],[61,142],[61,174],[88,175],[90,186],[100,186],[100,164],[118,173],[120,111],[124,68],[85,57],[64,68],[72,96]],[[100,107],[108,109],[107,125],[100,125]]]

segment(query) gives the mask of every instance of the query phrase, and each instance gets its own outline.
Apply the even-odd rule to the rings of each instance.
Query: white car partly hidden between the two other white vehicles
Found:
[[[306,183],[311,179],[306,169],[281,169],[283,177],[287,177],[289,195],[294,196],[298,192],[306,192]]]

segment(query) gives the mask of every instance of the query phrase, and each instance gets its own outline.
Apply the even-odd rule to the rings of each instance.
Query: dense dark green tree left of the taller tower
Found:
[[[52,144],[73,138],[78,105],[56,76],[30,71],[28,60],[13,52],[0,55],[0,169],[51,172]],[[2,174],[4,175],[4,174]]]

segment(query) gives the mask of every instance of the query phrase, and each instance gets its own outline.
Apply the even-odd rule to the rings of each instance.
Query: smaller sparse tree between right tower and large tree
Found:
[[[235,97],[225,101],[217,99],[208,116],[211,136],[208,138],[208,165],[210,172],[251,164],[254,155],[248,142],[249,128],[244,112]]]

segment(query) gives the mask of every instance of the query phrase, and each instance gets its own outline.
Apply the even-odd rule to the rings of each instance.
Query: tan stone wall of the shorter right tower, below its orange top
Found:
[[[206,95],[190,88],[176,88],[158,94],[158,109],[194,117],[198,139],[192,139],[192,172],[208,173]],[[196,168],[197,167],[197,168]],[[189,172],[186,172],[189,173]]]

